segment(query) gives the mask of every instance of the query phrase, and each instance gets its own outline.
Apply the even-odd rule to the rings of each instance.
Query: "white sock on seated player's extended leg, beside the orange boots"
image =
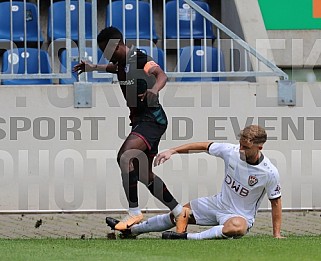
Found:
[[[133,225],[131,232],[135,235],[148,232],[160,232],[173,228],[175,225],[172,223],[170,214],[157,215],[147,219],[146,221]]]

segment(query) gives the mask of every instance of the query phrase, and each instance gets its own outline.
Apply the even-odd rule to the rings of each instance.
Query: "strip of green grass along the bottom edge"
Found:
[[[1,239],[0,260],[321,260],[321,236],[238,240]]]

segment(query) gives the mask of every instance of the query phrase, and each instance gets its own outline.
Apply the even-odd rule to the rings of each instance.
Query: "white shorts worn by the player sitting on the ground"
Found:
[[[197,225],[224,225],[224,223],[230,218],[242,217],[247,221],[248,229],[253,226],[253,221],[219,206],[219,204],[217,204],[216,196],[193,199],[190,201],[190,205]]]

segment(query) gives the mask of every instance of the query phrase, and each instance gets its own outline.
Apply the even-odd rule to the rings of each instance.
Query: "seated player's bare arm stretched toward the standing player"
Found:
[[[176,148],[166,150],[156,155],[156,158],[154,160],[154,166],[156,167],[160,164],[163,164],[165,161],[169,160],[173,154],[176,154],[176,153],[205,152],[207,151],[208,146],[210,144],[211,142],[194,142],[194,143],[188,143]]]

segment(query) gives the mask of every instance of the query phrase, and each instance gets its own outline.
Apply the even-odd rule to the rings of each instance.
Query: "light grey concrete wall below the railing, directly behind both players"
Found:
[[[277,86],[168,83],[161,100],[169,126],[160,149],[186,142],[237,143],[246,124],[269,140],[285,208],[321,208],[321,85],[297,84],[297,106],[277,105]],[[117,85],[94,85],[94,107],[75,109],[72,86],[0,88],[0,210],[126,209],[118,148],[129,132]],[[220,191],[222,160],[176,155],[154,169],[184,203]],[[140,187],[141,207],[165,207]],[[265,200],[262,208],[269,207]]]

